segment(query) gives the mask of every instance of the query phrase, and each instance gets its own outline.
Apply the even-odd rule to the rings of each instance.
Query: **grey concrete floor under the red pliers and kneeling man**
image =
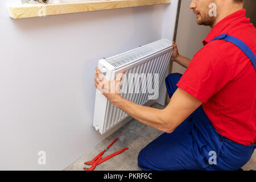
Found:
[[[152,107],[163,109],[164,106],[159,104],[153,104]],[[143,131],[143,132],[142,132]],[[82,155],[70,166],[64,170],[75,170],[82,171],[86,166],[85,161],[92,160],[97,154],[99,154],[106,146],[113,142],[115,138],[118,140],[109,148],[103,157],[112,154],[113,152],[119,151],[122,148],[129,147],[129,150],[124,151],[122,154],[114,156],[114,158],[107,160],[97,166],[94,171],[140,171],[141,169],[137,165],[137,157],[139,151],[142,150],[148,143],[154,140],[156,137],[161,135],[163,132],[156,130],[150,126],[143,125],[135,119],[126,123],[119,130],[115,131],[114,134],[106,138],[97,146],[92,148],[89,152]],[[242,167],[243,170],[256,170],[256,150],[249,162]]]

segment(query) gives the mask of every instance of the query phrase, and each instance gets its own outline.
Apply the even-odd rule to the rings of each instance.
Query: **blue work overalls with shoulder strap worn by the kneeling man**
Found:
[[[227,34],[213,40],[217,39],[236,44],[256,71],[256,57],[245,43]],[[173,73],[166,77],[170,97],[181,76]],[[144,147],[138,166],[143,170],[237,170],[250,160],[255,148],[256,144],[243,145],[220,135],[200,106],[173,133],[164,133]]]

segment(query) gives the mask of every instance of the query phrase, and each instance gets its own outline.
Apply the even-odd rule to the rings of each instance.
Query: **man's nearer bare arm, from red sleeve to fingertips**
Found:
[[[96,71],[97,73],[94,77],[95,87],[115,107],[118,107],[145,125],[155,127],[167,133],[172,133],[184,119],[202,104],[200,100],[178,88],[172,95],[168,106],[163,110],[141,106],[120,96],[120,82],[125,73],[124,71],[118,73],[116,80],[113,81],[104,78],[97,67]]]

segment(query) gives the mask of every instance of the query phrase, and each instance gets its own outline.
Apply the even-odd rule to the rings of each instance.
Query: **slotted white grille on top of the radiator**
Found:
[[[156,42],[147,44],[146,46],[138,47],[131,51],[109,57],[105,59],[105,61],[113,65],[113,67],[117,68],[132,61],[142,59],[143,57],[150,56],[153,53],[162,51],[163,49],[166,49],[170,46],[172,46],[172,43],[170,41],[168,41],[167,39],[161,39]]]

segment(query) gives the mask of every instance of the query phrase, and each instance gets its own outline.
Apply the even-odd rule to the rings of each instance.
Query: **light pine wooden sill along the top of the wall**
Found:
[[[110,0],[56,3],[48,5],[26,4],[20,6],[9,6],[9,10],[11,18],[19,19],[68,13],[81,13],[86,11],[119,9],[124,7],[158,5],[164,3],[171,3],[171,0]]]

